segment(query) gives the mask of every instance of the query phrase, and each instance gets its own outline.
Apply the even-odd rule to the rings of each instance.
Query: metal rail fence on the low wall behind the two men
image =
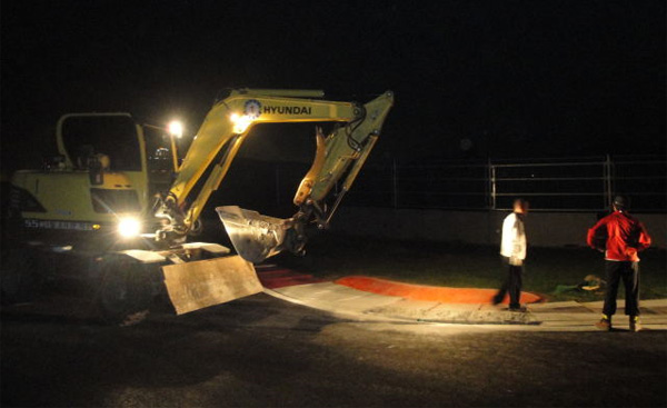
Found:
[[[617,193],[636,212],[667,212],[666,157],[392,161],[365,168],[346,203],[506,210],[524,197],[537,211],[605,211]]]

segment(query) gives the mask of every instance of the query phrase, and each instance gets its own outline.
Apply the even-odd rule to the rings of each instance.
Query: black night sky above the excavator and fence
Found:
[[[391,89],[380,158],[665,153],[664,0],[1,8],[3,176],[54,150],[64,112],[181,117],[195,132],[231,87],[360,101]]]

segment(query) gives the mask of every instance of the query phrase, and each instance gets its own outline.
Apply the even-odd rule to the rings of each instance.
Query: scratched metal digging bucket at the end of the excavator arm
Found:
[[[289,220],[262,216],[237,206],[217,207],[237,253],[258,263],[282,250]]]

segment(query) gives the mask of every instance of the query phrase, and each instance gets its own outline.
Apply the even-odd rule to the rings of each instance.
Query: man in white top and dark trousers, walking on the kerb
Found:
[[[521,275],[524,260],[526,259],[526,229],[524,218],[528,212],[528,201],[518,198],[514,202],[514,212],[505,217],[502,221],[502,238],[500,241],[500,255],[509,266],[507,279],[494,296],[494,305],[498,305],[509,292],[509,310],[525,311],[519,299],[521,297]]]

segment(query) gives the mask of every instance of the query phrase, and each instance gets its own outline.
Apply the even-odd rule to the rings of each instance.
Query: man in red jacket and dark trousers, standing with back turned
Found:
[[[607,292],[603,318],[595,326],[611,329],[611,316],[616,312],[618,283],[623,279],[626,289],[625,312],[630,318],[630,331],[639,331],[639,257],[637,252],[650,246],[650,237],[644,225],[627,212],[627,200],[617,196],[614,212],[599,220],[588,230],[589,247],[605,252]]]

